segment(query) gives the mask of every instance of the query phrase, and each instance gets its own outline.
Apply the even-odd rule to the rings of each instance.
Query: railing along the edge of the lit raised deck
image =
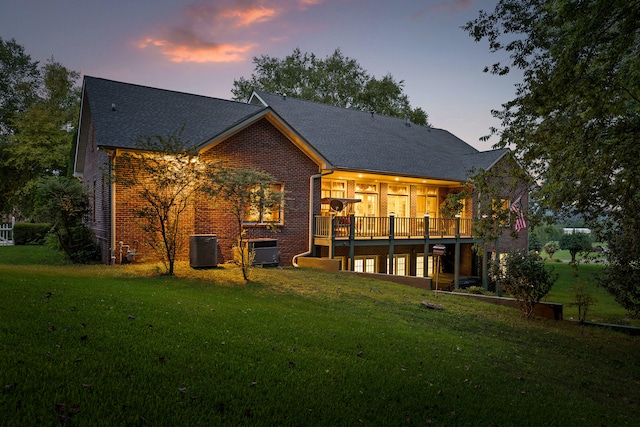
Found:
[[[391,221],[393,218],[393,222]],[[470,218],[405,218],[405,217],[361,217],[361,216],[316,216],[315,237],[336,238],[350,236],[351,221],[354,238],[389,238],[393,226],[393,237],[424,237],[425,223],[428,220],[429,237],[471,236]],[[333,234],[331,233],[333,229]]]

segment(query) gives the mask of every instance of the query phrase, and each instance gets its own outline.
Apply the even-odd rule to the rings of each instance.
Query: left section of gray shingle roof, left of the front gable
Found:
[[[183,140],[199,146],[264,110],[258,105],[88,76],[84,89],[96,141],[117,148],[135,147],[137,137],[167,136],[182,126]]]

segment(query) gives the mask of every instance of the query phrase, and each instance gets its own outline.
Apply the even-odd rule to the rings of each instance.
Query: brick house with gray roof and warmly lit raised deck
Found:
[[[480,276],[473,198],[456,218],[442,218],[440,207],[447,194],[461,191],[471,169],[518,167],[508,150],[480,152],[445,130],[375,113],[264,92],[239,103],[87,76],[75,174],[91,195],[90,226],[105,263],[120,262],[120,242],[142,241],[130,213],[135,197],[109,175],[118,173],[122,153],[136,150],[137,137],[180,128],[200,161],[276,178],[286,193],[278,232],[247,225],[250,238],[277,240],[281,265],[315,256],[338,259],[346,270],[427,276],[433,245],[444,245],[443,271],[456,284]],[[521,204],[526,211],[526,191]],[[187,220],[187,234],[217,235],[220,262],[232,258],[233,223],[213,203],[198,202]],[[518,234],[512,239],[505,231],[500,250],[526,248],[527,229]],[[150,256],[137,250],[139,258]]]

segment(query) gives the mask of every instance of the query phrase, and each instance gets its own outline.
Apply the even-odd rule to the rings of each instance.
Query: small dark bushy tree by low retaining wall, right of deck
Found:
[[[525,317],[531,317],[535,305],[544,298],[558,279],[535,254],[510,251],[504,261],[504,271],[497,269],[505,290],[516,300]]]

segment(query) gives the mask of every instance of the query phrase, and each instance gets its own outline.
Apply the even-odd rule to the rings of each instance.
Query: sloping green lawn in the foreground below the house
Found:
[[[30,261],[28,261],[30,259]],[[0,247],[2,425],[633,425],[637,337],[350,275]],[[427,310],[429,301],[444,310]]]

